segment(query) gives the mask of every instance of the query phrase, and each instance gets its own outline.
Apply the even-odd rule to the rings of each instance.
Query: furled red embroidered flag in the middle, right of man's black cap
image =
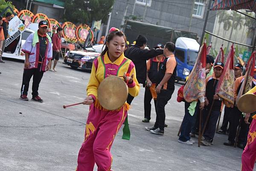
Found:
[[[232,45],[227,56],[225,67],[222,70],[221,77],[219,78],[218,85],[215,90],[215,93],[218,94],[218,96],[229,103],[226,104],[227,107],[231,107],[235,101],[234,82],[234,45]]]

